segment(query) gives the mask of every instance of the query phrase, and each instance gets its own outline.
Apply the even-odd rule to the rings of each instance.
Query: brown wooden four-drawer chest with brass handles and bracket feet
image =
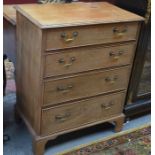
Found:
[[[123,125],[140,16],[108,3],[17,6],[17,111],[34,151],[61,134]]]

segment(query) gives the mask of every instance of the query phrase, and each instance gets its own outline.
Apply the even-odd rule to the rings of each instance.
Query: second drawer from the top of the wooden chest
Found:
[[[45,56],[44,77],[131,64],[135,43],[59,50]]]

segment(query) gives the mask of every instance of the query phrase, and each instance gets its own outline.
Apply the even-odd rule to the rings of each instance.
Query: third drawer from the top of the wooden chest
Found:
[[[126,89],[130,66],[78,74],[44,82],[44,105]]]

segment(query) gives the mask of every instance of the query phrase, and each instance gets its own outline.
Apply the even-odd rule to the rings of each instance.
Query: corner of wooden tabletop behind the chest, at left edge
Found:
[[[16,25],[16,10],[15,5],[4,5],[3,6],[3,17],[11,24]]]

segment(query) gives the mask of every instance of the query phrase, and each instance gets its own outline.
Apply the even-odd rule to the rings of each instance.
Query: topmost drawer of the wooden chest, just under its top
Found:
[[[138,22],[46,30],[46,51],[136,40]]]

